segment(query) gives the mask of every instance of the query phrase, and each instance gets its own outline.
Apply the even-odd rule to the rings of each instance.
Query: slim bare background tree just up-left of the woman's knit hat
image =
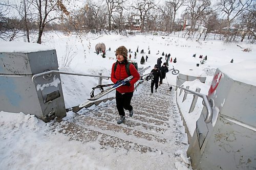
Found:
[[[124,0],[105,0],[106,5],[108,6],[108,25],[109,31],[111,31],[111,18],[113,18],[113,12],[119,11]]]

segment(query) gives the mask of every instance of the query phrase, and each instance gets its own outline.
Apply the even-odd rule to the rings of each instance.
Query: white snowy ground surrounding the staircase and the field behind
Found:
[[[95,45],[99,42],[103,42],[107,50],[111,47],[110,52],[106,51],[106,58],[94,53]],[[148,65],[153,67],[159,57],[163,57],[162,61],[164,62],[165,57],[161,56],[162,52],[164,54],[170,53],[173,59],[177,58],[177,63],[169,63],[170,67],[174,64],[174,67],[179,69],[180,73],[197,77],[206,76],[203,71],[206,67],[217,68],[228,65],[229,68],[230,64],[237,64],[239,68],[246,68],[248,62],[244,62],[245,65],[238,63],[245,60],[255,60],[256,56],[255,44],[245,42],[225,43],[212,39],[196,42],[195,40],[179,38],[177,34],[172,36],[136,35],[129,37],[114,34],[103,36],[88,34],[78,37],[52,32],[46,35],[44,44],[56,49],[59,63],[65,55],[66,44],[72,46],[71,53],[76,54],[76,56],[70,67],[60,68],[60,70],[94,75],[102,72],[102,75],[105,76],[110,76],[111,65],[115,62],[109,57],[115,58],[114,50],[121,45],[126,46],[128,50],[131,48],[133,52],[131,53],[132,60],[138,62],[138,64],[142,54],[138,54],[137,59],[134,59],[134,52],[137,47],[139,47],[139,53],[144,49],[144,52],[146,52],[144,57],[147,55],[148,61],[145,65],[139,64],[139,67]],[[237,45],[250,48],[251,52],[243,52],[242,48]],[[151,51],[149,55],[147,54],[148,47]],[[157,51],[159,51],[159,55],[156,55]],[[195,58],[192,57],[193,54],[196,54]],[[207,62],[197,67],[196,64],[200,63],[201,60],[199,55],[203,55],[203,57],[207,55]],[[234,63],[230,63],[231,59]],[[232,68],[233,70],[230,68],[230,70],[237,71],[239,68]],[[254,74],[255,69],[252,69],[248,71],[247,77],[253,77]],[[167,79],[164,79],[163,83],[167,83],[168,80],[169,84],[175,85],[176,76],[172,75],[171,72],[166,75]],[[203,85],[201,92],[207,94],[212,76],[206,77],[206,83]],[[91,88],[98,83],[97,78],[67,75],[61,75],[61,81],[66,108],[77,106],[86,100],[90,95]],[[110,80],[103,80],[103,84],[107,83],[111,83]],[[193,114],[190,114],[190,116],[192,116],[191,120],[196,119],[196,115],[193,117]],[[101,165],[100,160],[90,158],[82,144],[69,141],[67,137],[62,135],[49,135],[49,124],[41,122],[34,116],[1,111],[0,117],[0,169],[6,169],[7,167],[9,169],[108,169],[107,166]],[[106,155],[106,157],[108,156]],[[111,163],[112,160],[109,161]],[[139,168],[144,169],[143,167]]]

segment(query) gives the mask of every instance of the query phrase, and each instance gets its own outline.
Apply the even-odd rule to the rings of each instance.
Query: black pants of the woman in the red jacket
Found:
[[[131,100],[133,97],[133,92],[128,92],[121,94],[116,91],[116,108],[120,116],[125,116],[125,110],[133,110],[133,106],[131,105]]]

